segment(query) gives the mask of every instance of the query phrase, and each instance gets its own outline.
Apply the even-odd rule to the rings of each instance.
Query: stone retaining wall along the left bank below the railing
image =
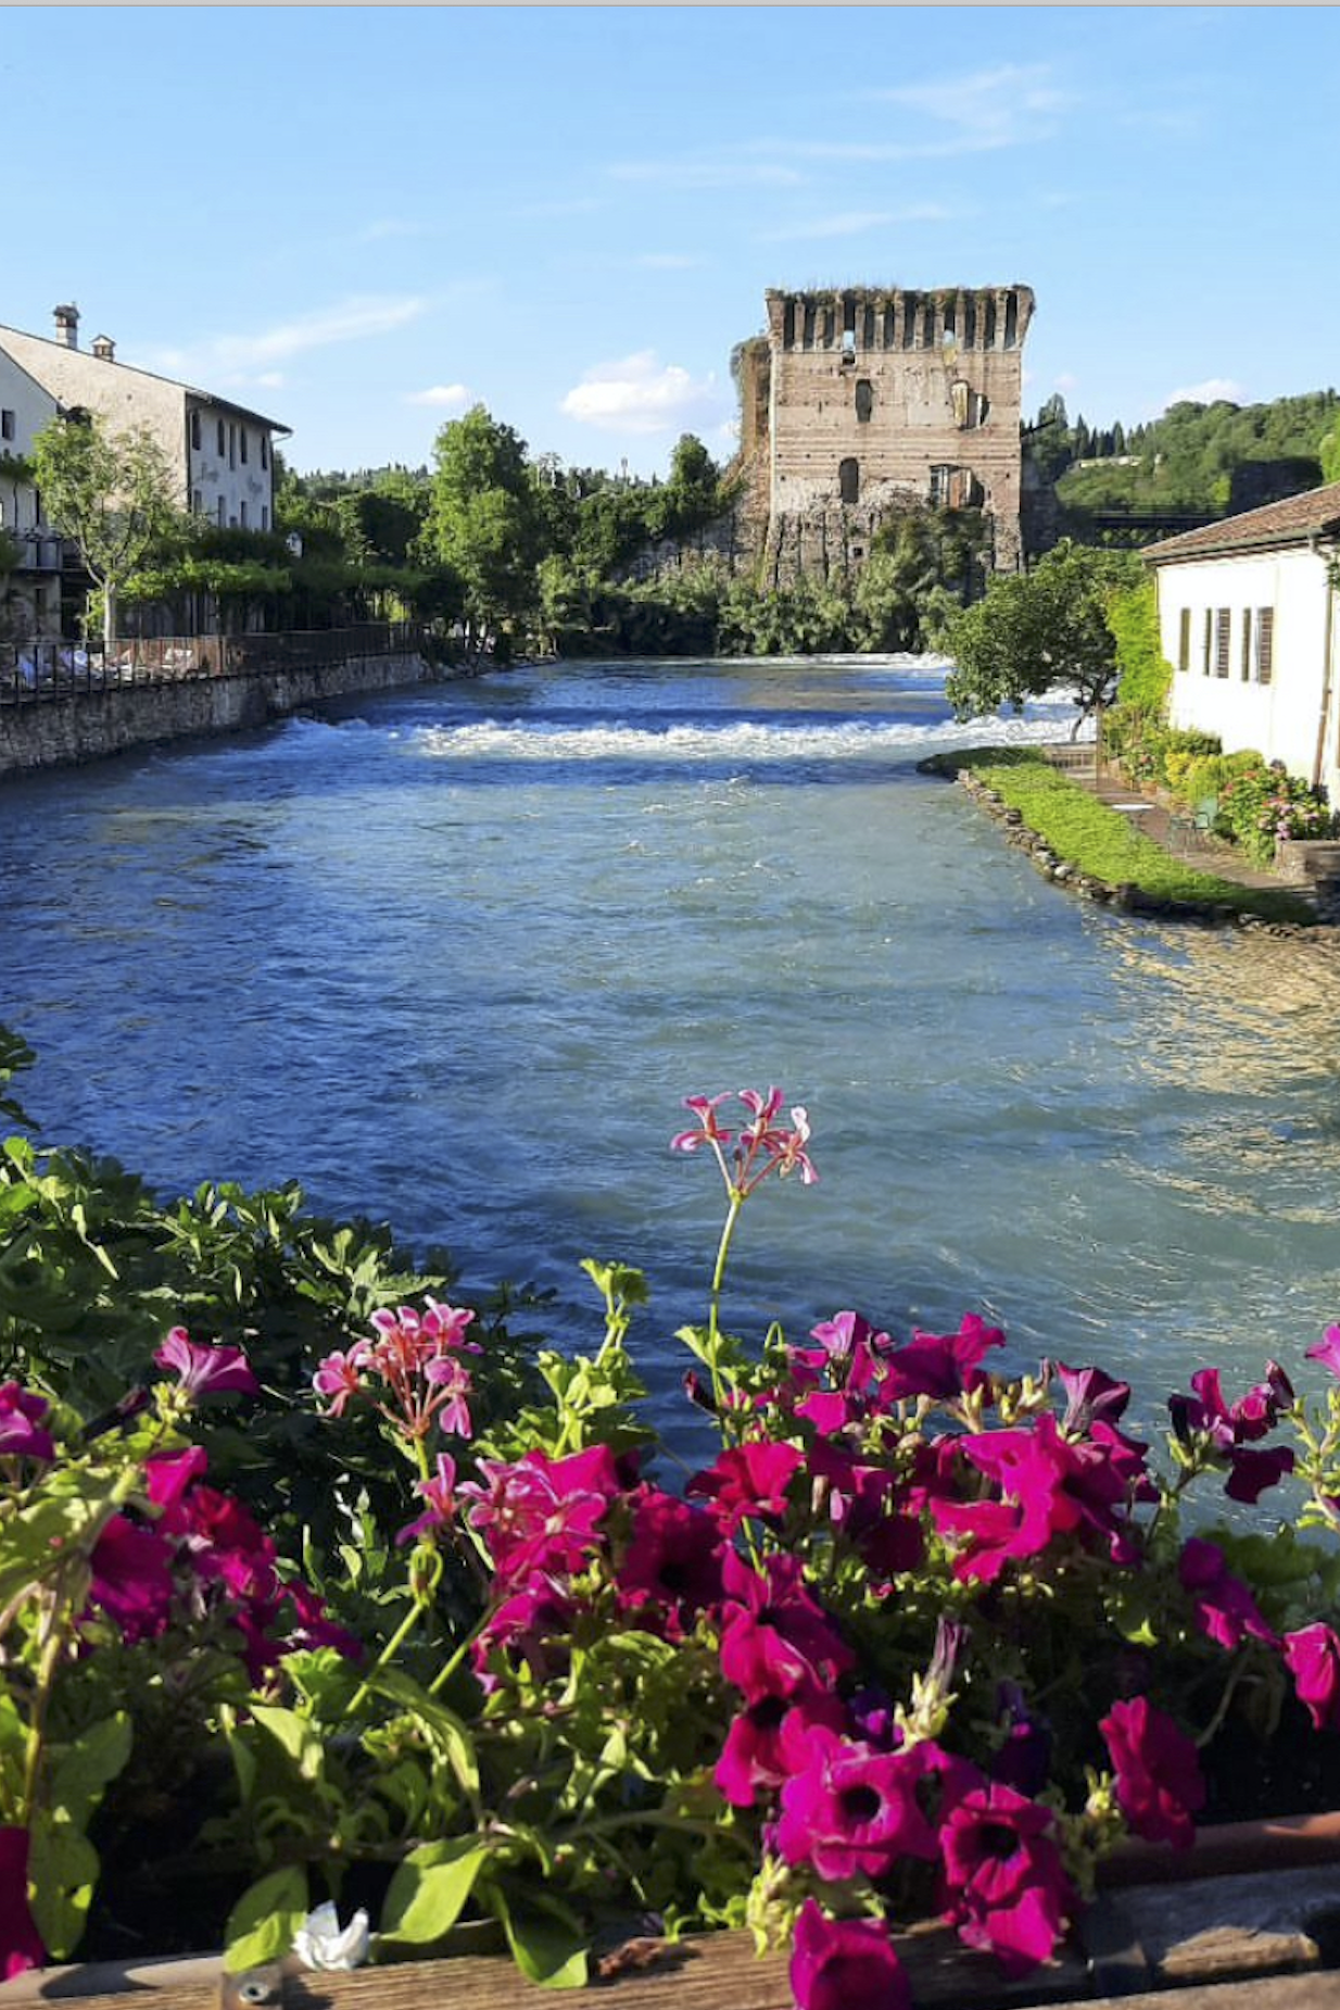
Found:
[[[88,691],[0,708],[0,780],[70,768],[131,748],[197,734],[233,734],[289,718],[327,697],[426,683],[420,655],[364,655],[344,663],[191,677],[137,689]]]

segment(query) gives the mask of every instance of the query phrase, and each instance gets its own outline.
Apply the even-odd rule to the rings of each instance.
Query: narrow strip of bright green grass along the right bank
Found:
[[[996,790],[1021,812],[1029,830],[1057,858],[1109,886],[1139,886],[1159,900],[1209,907],[1230,902],[1238,913],[1266,921],[1316,923],[1308,900],[1284,888],[1242,886],[1213,872],[1197,872],[1187,860],[1141,836],[1129,818],[1109,810],[1033,748],[974,748],[954,754],[952,768],[970,770],[984,788]]]

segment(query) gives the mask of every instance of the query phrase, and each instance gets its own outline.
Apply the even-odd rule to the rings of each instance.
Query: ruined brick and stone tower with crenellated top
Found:
[[[1023,346],[1033,291],[769,289],[737,354],[743,515],[763,577],[848,573],[910,505],[980,509],[1021,565]]]

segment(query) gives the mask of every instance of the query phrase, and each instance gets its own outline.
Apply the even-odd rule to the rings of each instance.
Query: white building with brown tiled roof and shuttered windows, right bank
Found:
[[[1169,722],[1282,760],[1340,804],[1340,482],[1143,557],[1173,665]]]

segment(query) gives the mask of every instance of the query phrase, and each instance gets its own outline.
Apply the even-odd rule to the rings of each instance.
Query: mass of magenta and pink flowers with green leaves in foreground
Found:
[[[96,1417],[0,1389],[8,1974],[171,1930],[233,1970],[406,1962],[486,1922],[577,1986],[629,1936],[747,1928],[808,2010],[892,2010],[914,1922],[1019,1978],[1129,1837],[1187,1851],[1264,1781],[1340,1803],[1340,1327],[1310,1397],[1191,1377],[1161,1459],[1123,1381],[1004,1367],[972,1313],[747,1347],[743,1208],[818,1174],[802,1108],[727,1103],[673,1138],[725,1196],[681,1487],[619,1264],[587,1266],[599,1351],[540,1353],[486,1427],[470,1309],[384,1306],[309,1363],[329,1443],[376,1419],[404,1475],[390,1516],[331,1481],[331,1554],[209,1483],[199,1425],[263,1401],[235,1345],[173,1327]],[[1205,1493],[1232,1522],[1191,1526]]]

